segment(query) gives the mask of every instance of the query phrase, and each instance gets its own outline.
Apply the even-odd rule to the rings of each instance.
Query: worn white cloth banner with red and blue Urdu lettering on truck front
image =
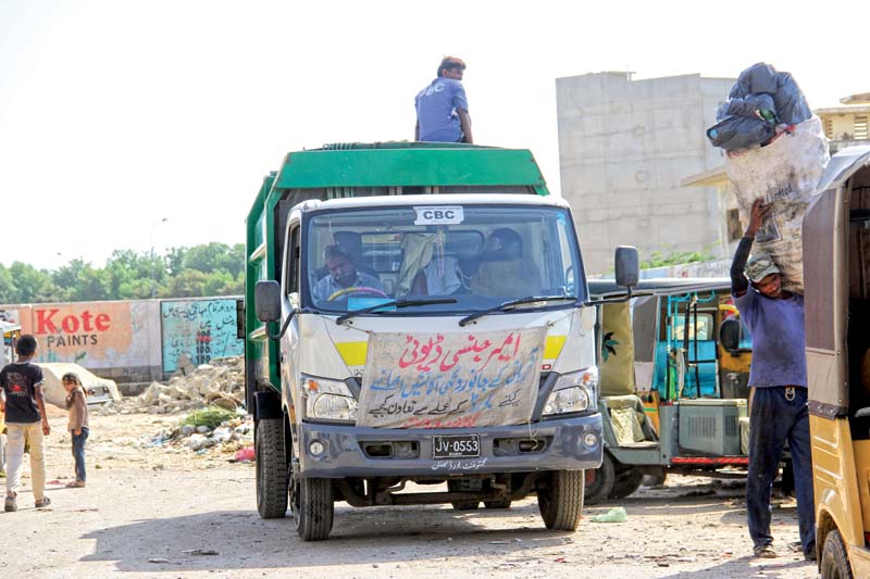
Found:
[[[546,328],[374,333],[357,426],[470,428],[525,424]]]

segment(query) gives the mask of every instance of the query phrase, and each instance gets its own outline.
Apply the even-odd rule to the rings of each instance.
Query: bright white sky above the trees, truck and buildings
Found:
[[[765,61],[832,106],[870,91],[869,21],[866,0],[0,0],[0,264],[243,242],[285,153],[412,139],[445,54],[475,142],[531,149],[558,194],[556,78]]]

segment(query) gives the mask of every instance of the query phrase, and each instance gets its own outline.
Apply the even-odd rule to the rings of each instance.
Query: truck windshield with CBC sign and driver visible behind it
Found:
[[[409,205],[316,213],[304,227],[306,306],[349,312],[397,299],[449,297],[401,314],[468,314],[532,295],[585,299],[568,210]],[[532,306],[570,307],[571,300]],[[545,305],[546,304],[546,305]],[[376,314],[397,313],[385,305]]]

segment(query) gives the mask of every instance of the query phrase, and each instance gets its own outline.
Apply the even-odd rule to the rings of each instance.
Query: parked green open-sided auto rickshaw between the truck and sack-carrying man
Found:
[[[624,293],[588,286],[599,299]],[[586,503],[627,496],[644,475],[742,476],[751,341],[731,280],[643,279],[630,302],[601,305],[597,329],[605,453],[586,473]]]

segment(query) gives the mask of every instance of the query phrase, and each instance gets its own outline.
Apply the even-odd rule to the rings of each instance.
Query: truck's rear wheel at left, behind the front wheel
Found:
[[[257,511],[261,518],[281,518],[287,513],[287,456],[284,421],[259,420],[254,428],[257,458]]]

